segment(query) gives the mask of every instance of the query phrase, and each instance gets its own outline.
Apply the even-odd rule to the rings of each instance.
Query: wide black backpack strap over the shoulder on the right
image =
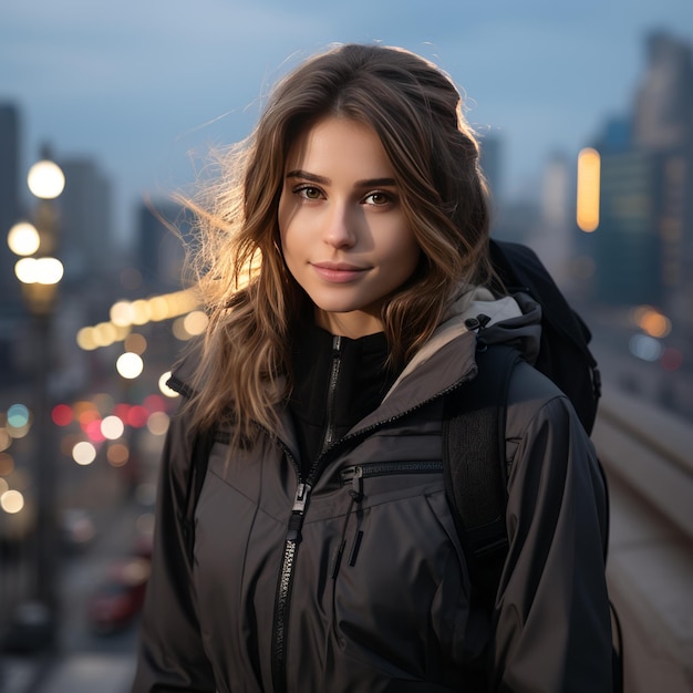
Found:
[[[506,401],[520,358],[511,346],[479,342],[478,373],[446,400],[443,418],[447,499],[472,583],[488,607],[495,602],[508,550]]]

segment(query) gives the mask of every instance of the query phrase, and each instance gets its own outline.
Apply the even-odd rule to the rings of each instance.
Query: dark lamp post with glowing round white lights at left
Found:
[[[31,597],[32,622],[23,628],[35,629],[35,647],[56,644],[59,623],[59,532],[58,478],[55,441],[51,422],[49,379],[53,368],[53,310],[63,266],[54,257],[58,236],[58,213],[54,199],[62,193],[65,178],[51,161],[48,148],[28,175],[29,189],[37,198],[33,224],[15,225],[8,244],[21,259],[14,273],[22,285],[22,294],[33,321],[32,363],[34,381],[34,474],[37,488],[35,583]]]

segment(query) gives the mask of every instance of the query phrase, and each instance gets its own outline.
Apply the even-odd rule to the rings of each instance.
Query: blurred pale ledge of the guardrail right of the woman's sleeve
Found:
[[[627,693],[693,692],[693,425],[606,387],[592,439],[609,478],[608,579]]]

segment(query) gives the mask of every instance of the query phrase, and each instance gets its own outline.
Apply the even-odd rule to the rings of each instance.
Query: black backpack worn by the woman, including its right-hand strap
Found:
[[[509,293],[523,291],[541,306],[541,343],[534,365],[568,396],[585,430],[591,433],[601,379],[589,349],[588,327],[530,248],[492,240],[490,257]],[[485,345],[483,320],[477,322],[482,325],[477,341],[478,374],[446,402],[443,468],[448,503],[465,546],[473,583],[490,610],[508,550],[505,413],[510,374],[521,356],[508,345]],[[601,465],[599,470],[608,492]],[[613,606],[611,614],[613,691],[620,693],[622,634]]]

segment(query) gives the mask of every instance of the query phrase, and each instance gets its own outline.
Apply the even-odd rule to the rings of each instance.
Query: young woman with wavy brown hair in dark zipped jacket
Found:
[[[134,691],[609,691],[604,489],[568,400],[507,405],[509,552],[493,613],[446,501],[443,405],[495,297],[478,146],[452,81],[343,45],[275,90],[198,207],[204,344],[175,371]],[[198,432],[214,445],[188,556]],[[420,464],[425,463],[425,464]],[[365,473],[364,470],[369,470]]]

